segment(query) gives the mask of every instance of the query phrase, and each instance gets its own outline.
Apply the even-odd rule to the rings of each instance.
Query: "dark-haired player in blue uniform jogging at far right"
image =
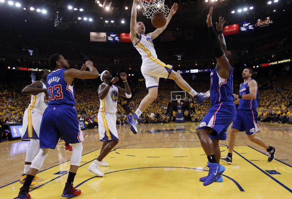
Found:
[[[234,95],[237,99],[234,104],[239,104],[233,124],[231,126],[228,155],[222,158],[222,162],[232,164],[232,152],[235,146],[235,138],[238,131],[245,131],[250,141],[264,147],[268,153],[268,162],[275,158],[276,148],[268,146],[261,138],[256,137],[255,133],[259,133],[258,106],[259,89],[257,82],[252,79],[253,70],[245,68],[242,72],[244,82],[240,84],[239,95]]]

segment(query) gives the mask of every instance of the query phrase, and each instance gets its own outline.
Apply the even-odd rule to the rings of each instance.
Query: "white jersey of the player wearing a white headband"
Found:
[[[107,85],[105,83],[103,84]],[[99,99],[100,101],[99,111],[111,113],[111,114],[116,113],[116,105],[118,101],[118,96],[119,96],[118,87],[116,87],[115,85],[112,85],[106,97],[103,100]]]

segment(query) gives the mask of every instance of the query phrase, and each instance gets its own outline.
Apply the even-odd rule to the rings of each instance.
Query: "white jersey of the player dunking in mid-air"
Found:
[[[157,58],[152,38],[149,35],[140,34],[140,41],[134,46],[142,56],[142,61],[150,57]]]

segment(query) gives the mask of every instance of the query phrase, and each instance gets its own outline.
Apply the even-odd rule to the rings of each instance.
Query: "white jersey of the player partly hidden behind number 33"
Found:
[[[43,84],[43,88],[47,88],[46,84],[41,82]],[[39,93],[36,95],[31,95],[31,101],[30,105],[28,106],[28,109],[37,111],[43,115],[43,112],[48,107],[48,101],[45,100],[45,93]]]

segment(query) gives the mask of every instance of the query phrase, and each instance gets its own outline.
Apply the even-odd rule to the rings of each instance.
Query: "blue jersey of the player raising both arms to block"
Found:
[[[221,102],[233,102],[233,68],[228,79],[221,78],[214,68],[210,74],[210,99],[211,105],[214,106]]]

